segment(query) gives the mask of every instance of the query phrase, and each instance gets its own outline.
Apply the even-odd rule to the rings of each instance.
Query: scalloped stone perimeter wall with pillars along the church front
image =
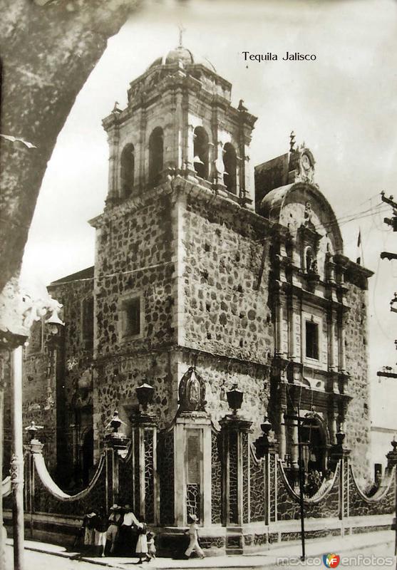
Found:
[[[234,447],[230,442],[237,432],[222,439],[222,430],[223,427],[220,431],[215,426],[211,428],[212,512],[208,519],[211,524],[200,527],[202,546],[210,554],[222,554],[234,542],[240,551],[249,551],[264,544],[299,539],[299,494],[289,483],[277,453],[265,452],[258,459],[247,430],[240,434],[239,445]],[[148,447],[150,453],[145,452],[147,432],[153,439],[153,445]],[[113,439],[115,445],[107,447],[100,457],[91,484],[75,495],[67,494],[52,480],[41,455],[41,444],[31,445],[25,457],[27,531],[31,537],[71,544],[88,509],[109,509],[113,502],[129,502],[136,513],[147,511],[146,522],[158,537],[159,551],[179,551],[184,544],[185,528],[177,527],[174,518],[178,489],[172,426],[157,432],[145,423],[134,432],[128,451],[125,445],[120,449],[118,437]],[[306,537],[390,528],[396,500],[394,453],[388,455],[388,469],[371,496],[360,489],[349,455],[343,454],[334,475],[323,482],[313,497],[304,499]],[[3,487],[8,488],[9,483],[5,481]],[[9,498],[4,500],[5,508],[11,506]],[[153,507],[153,512],[149,507]]]

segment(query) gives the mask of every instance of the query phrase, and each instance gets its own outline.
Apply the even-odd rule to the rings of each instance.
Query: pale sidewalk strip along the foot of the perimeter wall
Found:
[[[379,556],[391,556],[393,554],[393,544],[395,533],[393,531],[371,532],[368,534],[352,534],[344,537],[329,537],[321,540],[311,540],[306,542],[306,556],[322,557],[323,554],[333,552],[339,556],[347,556],[349,552],[359,551],[366,556],[371,555],[371,549],[381,549]],[[12,544],[12,539],[7,540],[7,544]],[[384,546],[384,549],[383,549]],[[89,556],[81,556],[78,551],[68,551],[63,546],[55,544],[46,544],[37,541],[25,541],[25,548],[32,551],[44,552],[55,556],[62,556],[68,559],[78,559],[86,562],[97,564],[98,566],[108,566],[110,568],[118,568],[123,570],[132,570],[136,559],[132,558],[91,558]],[[244,554],[239,556],[209,556],[205,559],[189,559],[174,560],[170,558],[157,558],[150,564],[143,563],[137,565],[138,568],[150,569],[227,569],[234,570],[237,568],[244,569],[262,569],[266,567],[277,567],[280,564],[280,558],[290,558],[289,564],[300,566],[299,558],[301,555],[300,542],[286,542],[284,544],[276,544],[271,549],[256,552],[254,554]],[[287,566],[289,566],[287,564]],[[303,566],[304,564],[302,564]],[[311,566],[314,566],[311,564]],[[324,567],[321,560],[321,566]]]

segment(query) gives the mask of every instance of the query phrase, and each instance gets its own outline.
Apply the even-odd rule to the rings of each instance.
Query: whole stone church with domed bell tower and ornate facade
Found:
[[[65,326],[51,335],[36,323],[24,355],[25,424],[43,425],[65,489],[88,484],[114,410],[133,445],[136,390],[150,392],[143,437],[170,477],[160,514],[179,526],[190,512],[217,520],[212,441],[233,389],[250,442],[269,418],[291,480],[297,415],[306,472],[333,469],[344,432],[366,475],[371,271],[344,255],[314,156],[293,133],[284,155],[252,165],[256,118],[232,106],[231,89],[181,45],[130,83],[127,107],[103,120],[95,264],[48,287]],[[230,435],[230,454],[244,437]]]

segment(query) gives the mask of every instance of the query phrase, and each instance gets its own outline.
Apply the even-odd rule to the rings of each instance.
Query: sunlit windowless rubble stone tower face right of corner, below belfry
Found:
[[[226,200],[189,197],[183,233],[185,345],[267,362],[274,351],[269,222]]]

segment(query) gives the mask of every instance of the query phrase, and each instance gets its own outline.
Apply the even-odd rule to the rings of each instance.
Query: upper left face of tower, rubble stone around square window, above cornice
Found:
[[[103,214],[96,237],[98,358],[157,348],[173,338],[172,217],[167,195],[145,204],[128,200]],[[140,296],[139,338],[120,333],[120,300]]]

